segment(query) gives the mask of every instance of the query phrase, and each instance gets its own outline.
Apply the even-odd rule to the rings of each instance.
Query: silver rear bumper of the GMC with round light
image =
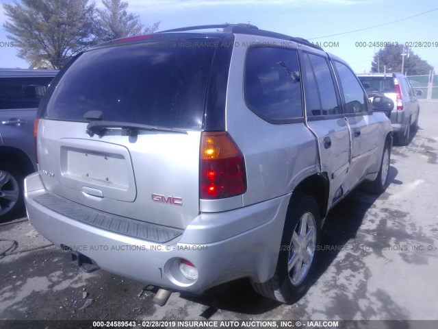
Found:
[[[217,284],[248,277],[271,278],[276,267],[290,195],[220,213],[202,213],[183,234],[152,243],[90,226],[55,212],[34,199],[48,193],[39,173],[25,179],[31,224],[55,245],[66,245],[94,260],[101,269],[158,287],[200,293]],[[198,269],[189,280],[179,258]]]

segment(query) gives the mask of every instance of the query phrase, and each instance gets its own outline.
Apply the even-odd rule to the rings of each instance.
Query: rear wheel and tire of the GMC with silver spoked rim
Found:
[[[292,304],[311,287],[320,241],[320,209],[315,199],[298,194],[291,199],[274,276],[251,282],[260,295]]]

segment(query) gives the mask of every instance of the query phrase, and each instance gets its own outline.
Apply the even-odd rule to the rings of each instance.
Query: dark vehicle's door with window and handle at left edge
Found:
[[[0,78],[0,136],[3,145],[25,151],[34,162],[36,109],[53,77]]]

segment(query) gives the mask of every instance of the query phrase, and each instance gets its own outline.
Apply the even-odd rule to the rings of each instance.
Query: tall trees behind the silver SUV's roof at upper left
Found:
[[[31,69],[62,69],[70,58],[108,40],[155,32],[160,22],[145,25],[122,0],[22,0],[3,4],[8,38]]]

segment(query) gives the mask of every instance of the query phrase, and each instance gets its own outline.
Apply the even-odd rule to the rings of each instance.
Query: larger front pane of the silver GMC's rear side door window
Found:
[[[309,60],[320,95],[322,115],[342,114],[342,110],[337,103],[335,84],[333,84],[333,78],[326,59],[309,53]]]

